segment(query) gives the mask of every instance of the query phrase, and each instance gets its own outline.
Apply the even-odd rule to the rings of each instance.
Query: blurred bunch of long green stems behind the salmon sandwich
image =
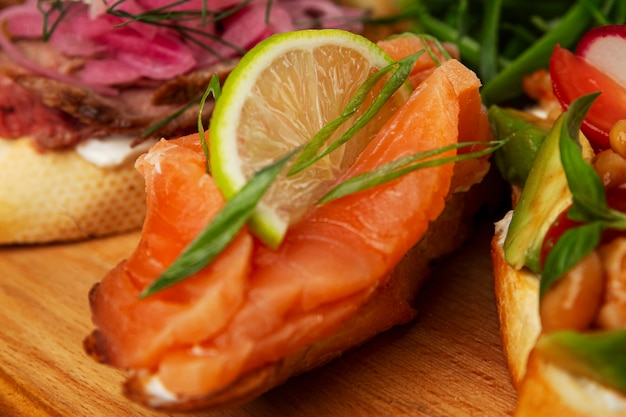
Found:
[[[522,78],[546,68],[554,46],[571,48],[592,26],[626,23],[615,0],[405,0],[395,22],[458,45],[461,60],[483,81],[487,105],[523,98]],[[394,23],[394,17],[377,21]]]

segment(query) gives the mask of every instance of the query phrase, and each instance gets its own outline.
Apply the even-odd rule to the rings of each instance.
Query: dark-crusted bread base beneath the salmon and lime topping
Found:
[[[490,175],[469,191],[452,194],[443,213],[395,267],[387,283],[332,336],[305,346],[277,363],[242,375],[223,390],[205,397],[168,399],[168,393],[158,381],[142,374],[135,374],[125,384],[126,396],[151,408],[172,411],[234,407],[294,375],[330,362],[392,326],[412,320],[416,315],[413,301],[428,277],[432,263],[466,241],[477,224],[476,216],[498,206],[497,200],[502,194],[493,192],[497,186],[501,186],[501,180]],[[97,349],[92,346],[96,343],[92,334],[85,340],[86,351],[95,352]]]

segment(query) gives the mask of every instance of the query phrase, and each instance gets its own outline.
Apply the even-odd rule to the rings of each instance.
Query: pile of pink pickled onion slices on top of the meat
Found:
[[[225,58],[237,57],[241,51],[250,49],[274,33],[331,26],[360,31],[362,25],[358,19],[363,15],[361,11],[337,6],[330,0],[273,0],[271,4],[268,0],[251,0],[220,22],[224,30],[220,38],[215,39],[214,25],[200,25],[199,14],[197,19],[175,22],[187,29],[187,33],[181,35],[170,28],[130,22],[123,17],[105,13],[113,4],[116,4],[116,10],[140,14],[167,7],[172,1],[125,0],[117,4],[114,0],[92,0],[91,5],[75,3],[71,14],[65,16],[56,28],[51,44],[66,56],[96,59],[86,61],[80,78],[31,61],[11,43],[6,33],[0,34],[0,47],[11,59],[30,71],[63,82],[92,87],[101,93],[114,94],[116,90],[107,86],[131,82],[137,74],[156,80],[170,79]],[[214,13],[238,4],[241,4],[241,0],[190,0],[171,10],[201,11],[206,5],[207,12]],[[266,21],[268,4],[269,22]],[[356,25],[346,25],[352,19],[357,21]],[[16,36],[35,39],[41,36],[43,17],[37,9],[37,0],[26,0],[21,6],[2,10],[2,21],[8,22],[8,30]],[[294,21],[297,25],[294,25]],[[193,36],[206,48],[198,46],[189,36]],[[207,51],[211,49],[213,52]]]

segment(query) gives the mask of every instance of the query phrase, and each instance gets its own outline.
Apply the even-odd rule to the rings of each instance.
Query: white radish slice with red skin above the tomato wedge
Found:
[[[576,55],[626,88],[626,25],[590,29],[580,38]]]

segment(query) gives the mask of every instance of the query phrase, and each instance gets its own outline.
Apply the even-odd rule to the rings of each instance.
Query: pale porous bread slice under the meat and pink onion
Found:
[[[100,168],[77,152],[39,153],[0,139],[0,245],[72,241],[141,227],[144,179],[132,163]]]

